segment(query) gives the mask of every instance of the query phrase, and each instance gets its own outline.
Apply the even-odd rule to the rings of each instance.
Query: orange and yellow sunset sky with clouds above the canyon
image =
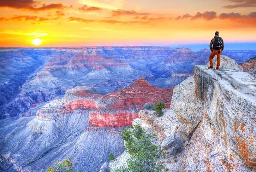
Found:
[[[256,49],[256,0],[0,0],[0,47]],[[36,45],[37,44],[37,45]]]

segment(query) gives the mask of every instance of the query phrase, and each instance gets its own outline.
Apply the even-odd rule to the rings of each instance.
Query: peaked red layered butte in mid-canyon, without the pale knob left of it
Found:
[[[148,84],[145,79],[135,81],[130,87],[109,93],[108,97],[117,100],[106,107],[91,112],[89,125],[91,127],[124,127],[132,124],[138,117],[138,112],[144,109],[145,103],[167,101],[166,108],[170,108],[172,89],[162,89]]]

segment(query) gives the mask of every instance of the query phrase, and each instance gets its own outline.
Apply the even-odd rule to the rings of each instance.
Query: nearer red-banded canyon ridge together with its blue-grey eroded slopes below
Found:
[[[71,158],[75,169],[98,171],[110,153],[124,151],[119,133],[138,118],[144,103],[165,101],[169,108],[171,99],[172,89],[154,87],[143,78],[106,95],[86,86],[68,89],[35,117],[2,120],[0,155],[12,159],[17,169],[33,172],[45,171],[64,157]],[[11,172],[12,165],[3,164]]]

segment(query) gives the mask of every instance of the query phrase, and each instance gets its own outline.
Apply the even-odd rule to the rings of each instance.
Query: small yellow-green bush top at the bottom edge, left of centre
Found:
[[[57,163],[53,164],[53,167],[49,167],[46,172],[75,172],[75,170],[72,169],[72,163],[70,162],[70,159],[67,158],[64,161],[57,161]],[[82,171],[78,171],[82,172]]]

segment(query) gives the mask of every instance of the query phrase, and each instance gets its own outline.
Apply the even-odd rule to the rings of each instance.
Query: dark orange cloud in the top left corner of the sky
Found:
[[[9,8],[16,8],[16,9],[26,9],[30,11],[44,11],[49,9],[63,9],[66,8],[63,4],[42,4],[41,7],[37,7],[39,3],[34,0],[1,0],[0,7],[9,7]]]

